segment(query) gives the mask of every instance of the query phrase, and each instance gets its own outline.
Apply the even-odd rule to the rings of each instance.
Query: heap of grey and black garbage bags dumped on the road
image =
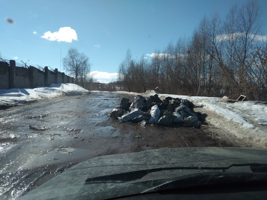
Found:
[[[143,126],[180,123],[194,128],[201,124],[197,113],[193,111],[194,104],[187,99],[166,97],[162,101],[157,94],[150,98],[136,95],[133,103],[127,98],[121,98],[119,105],[109,115],[120,122],[139,122]]]

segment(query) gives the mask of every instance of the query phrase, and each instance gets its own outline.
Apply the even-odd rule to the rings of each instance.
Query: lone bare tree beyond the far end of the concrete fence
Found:
[[[78,82],[85,82],[91,69],[89,57],[84,53],[79,53],[78,49],[70,48],[68,54],[62,59],[63,67],[70,75],[75,75]]]

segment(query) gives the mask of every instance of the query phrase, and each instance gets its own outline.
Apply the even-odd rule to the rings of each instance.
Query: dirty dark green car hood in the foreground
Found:
[[[220,173],[223,168],[249,172],[243,164],[266,161],[267,149],[256,148],[190,147],[106,155],[73,166],[19,199],[116,198],[150,191],[153,180]]]

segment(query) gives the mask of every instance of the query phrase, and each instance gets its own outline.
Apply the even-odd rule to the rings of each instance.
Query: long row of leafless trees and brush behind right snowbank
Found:
[[[267,37],[256,1],[232,6],[224,20],[204,17],[190,38],[156,50],[150,61],[132,59],[118,69],[121,90],[267,101]],[[156,88],[156,89],[155,89]]]

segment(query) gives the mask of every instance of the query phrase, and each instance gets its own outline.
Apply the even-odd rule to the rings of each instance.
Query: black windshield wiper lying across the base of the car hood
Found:
[[[120,174],[112,174],[112,175],[88,178],[86,179],[85,184],[91,184],[95,181],[123,181],[123,182],[135,181],[143,178],[145,175],[149,173],[163,171],[163,170],[227,170],[230,169],[231,167],[243,167],[243,166],[250,166],[251,171],[255,173],[267,173],[267,164],[260,164],[260,163],[232,164],[228,167],[165,167],[165,168],[138,170]]]

